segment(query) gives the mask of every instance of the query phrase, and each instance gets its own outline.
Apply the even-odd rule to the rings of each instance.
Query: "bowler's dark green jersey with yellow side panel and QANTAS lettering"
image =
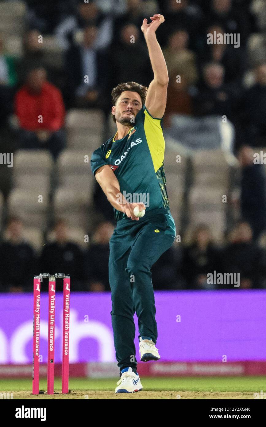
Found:
[[[168,220],[173,222],[169,211],[163,165],[165,140],[162,119],[152,117],[144,104],[128,134],[116,141],[114,138],[111,137],[93,152],[90,162],[93,174],[95,175],[99,167],[109,165],[119,181],[120,191],[124,196],[144,195],[143,200],[132,201],[145,203],[146,211],[162,208],[170,216]],[[127,218],[125,213],[116,209],[114,215],[117,221]]]

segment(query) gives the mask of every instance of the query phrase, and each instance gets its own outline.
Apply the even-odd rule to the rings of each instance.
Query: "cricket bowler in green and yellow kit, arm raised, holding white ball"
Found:
[[[135,312],[140,360],[160,359],[155,347],[156,309],[150,269],[176,236],[163,165],[162,118],[169,79],[155,34],[165,19],[159,14],[150,19],[150,23],[143,20],[141,29],[154,78],[149,88],[128,82],[113,89],[112,114],[117,132],[91,158],[93,174],[113,206],[117,220],[110,239],[109,260],[112,326],[120,368],[116,393],[142,390],[134,345]]]

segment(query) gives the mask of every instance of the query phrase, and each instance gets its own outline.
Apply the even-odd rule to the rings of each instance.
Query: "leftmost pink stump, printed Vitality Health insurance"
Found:
[[[32,394],[39,394],[40,379],[40,277],[33,279],[33,360],[32,360]]]

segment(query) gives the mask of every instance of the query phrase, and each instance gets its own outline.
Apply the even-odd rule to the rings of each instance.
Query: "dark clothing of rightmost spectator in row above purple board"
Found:
[[[251,288],[261,288],[266,280],[266,254],[253,242],[228,244],[222,253],[224,273],[240,273],[240,287],[250,281]],[[221,289],[233,289],[232,284],[218,285]]]

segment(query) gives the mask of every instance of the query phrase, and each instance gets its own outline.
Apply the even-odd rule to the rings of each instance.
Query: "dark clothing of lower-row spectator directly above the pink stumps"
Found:
[[[72,290],[83,290],[84,254],[78,245],[66,242],[60,245],[57,242],[44,246],[40,255],[39,271],[43,273],[65,273],[70,275]],[[63,281],[58,282],[58,290],[62,290]],[[47,284],[45,284],[46,286]],[[58,285],[56,285],[58,287]],[[45,288],[47,290],[47,288]]]

